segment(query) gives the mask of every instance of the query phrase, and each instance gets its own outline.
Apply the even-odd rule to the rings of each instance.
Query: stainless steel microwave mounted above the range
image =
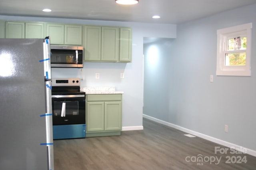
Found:
[[[83,46],[51,46],[51,67],[84,67]]]

